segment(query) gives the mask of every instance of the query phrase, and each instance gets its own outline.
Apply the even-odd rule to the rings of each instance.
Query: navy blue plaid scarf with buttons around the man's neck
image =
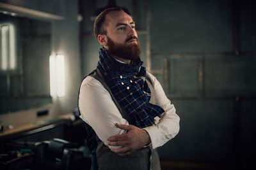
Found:
[[[164,110],[149,103],[151,93],[145,81],[146,69],[142,66],[143,62],[139,59],[130,64],[122,64],[109,56],[104,48],[100,48],[99,53],[97,67],[103,71],[111,92],[134,118],[136,126],[143,128],[155,124],[154,117],[160,116]]]

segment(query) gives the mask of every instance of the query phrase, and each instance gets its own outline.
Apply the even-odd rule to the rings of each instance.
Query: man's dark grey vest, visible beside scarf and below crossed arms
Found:
[[[125,118],[129,124],[134,125],[134,120],[129,116],[129,113],[125,111],[120,104],[116,101],[115,96],[113,96],[111,90],[109,89],[104,77],[100,73],[99,69],[96,69],[93,74],[91,74],[93,78],[100,81],[103,87],[108,90],[111,95],[116,107],[120,111],[123,118]],[[154,95],[154,89],[152,87],[152,82],[149,78],[146,78],[148,87],[151,91],[150,103],[156,104],[156,96]],[[156,149],[152,149],[151,146],[141,148],[132,152],[130,155],[125,157],[121,157],[116,153],[111,152],[108,146],[104,145],[104,143],[97,136],[97,162],[99,170],[158,170],[161,169],[159,156]]]

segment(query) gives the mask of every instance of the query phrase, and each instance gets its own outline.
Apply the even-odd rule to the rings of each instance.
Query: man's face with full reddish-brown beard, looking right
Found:
[[[132,18],[124,11],[112,11],[106,15],[105,24],[106,50],[124,59],[138,59],[141,48]]]

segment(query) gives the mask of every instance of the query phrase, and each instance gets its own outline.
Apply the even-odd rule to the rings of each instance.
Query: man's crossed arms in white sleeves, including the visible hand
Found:
[[[112,152],[125,156],[142,148],[152,145],[152,148],[164,145],[179,132],[179,116],[175,108],[164,94],[164,91],[152,74],[157,105],[164,109],[159,123],[140,129],[129,125],[113,103],[108,90],[91,76],[81,85],[79,108],[81,118],[92,126],[97,136],[108,145]],[[99,103],[100,101],[100,103]]]

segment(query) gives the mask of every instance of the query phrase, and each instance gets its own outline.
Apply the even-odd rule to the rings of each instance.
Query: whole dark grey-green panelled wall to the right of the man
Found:
[[[161,159],[253,162],[255,1],[149,4],[152,72],[180,116]]]

